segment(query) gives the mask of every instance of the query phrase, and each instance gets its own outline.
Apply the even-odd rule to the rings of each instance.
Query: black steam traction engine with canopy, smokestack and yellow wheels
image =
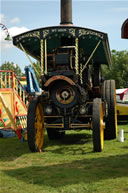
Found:
[[[103,81],[101,64],[111,65],[107,34],[72,25],[72,1],[61,0],[61,25],[15,36],[13,43],[40,61],[42,94],[28,108],[28,144],[41,151],[44,130],[60,139],[66,130],[91,129],[94,151],[117,135],[114,80]]]

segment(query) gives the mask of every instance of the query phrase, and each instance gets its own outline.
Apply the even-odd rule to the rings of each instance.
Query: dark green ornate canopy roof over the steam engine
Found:
[[[95,54],[94,63],[111,65],[111,54],[106,33],[76,26],[53,26],[35,29],[13,37],[13,44],[21,49],[20,43],[26,52],[33,58],[40,60],[40,40],[47,39],[47,52],[51,53],[61,46],[62,37],[79,39],[79,49],[83,49],[85,57],[89,57],[101,40]]]

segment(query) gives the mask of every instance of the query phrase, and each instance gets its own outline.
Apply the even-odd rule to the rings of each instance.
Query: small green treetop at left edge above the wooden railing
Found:
[[[5,62],[0,66],[0,70],[13,70],[16,76],[22,76],[22,71],[18,64],[14,64],[13,62]]]

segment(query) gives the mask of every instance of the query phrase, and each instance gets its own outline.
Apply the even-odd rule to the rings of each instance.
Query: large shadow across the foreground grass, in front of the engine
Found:
[[[128,177],[128,154],[90,158],[64,164],[30,166],[4,170],[5,174],[26,184],[63,187],[106,179]]]

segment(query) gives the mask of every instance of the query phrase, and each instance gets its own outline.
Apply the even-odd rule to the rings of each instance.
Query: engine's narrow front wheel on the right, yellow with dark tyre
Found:
[[[93,100],[93,147],[95,152],[101,152],[104,145],[103,105],[100,98]]]

